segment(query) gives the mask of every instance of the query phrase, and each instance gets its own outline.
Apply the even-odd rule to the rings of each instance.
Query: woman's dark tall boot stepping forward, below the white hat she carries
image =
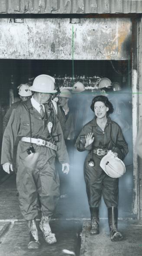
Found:
[[[123,239],[122,234],[117,230],[118,223],[118,208],[108,208],[108,220],[109,220],[109,231],[112,241],[121,241]]]

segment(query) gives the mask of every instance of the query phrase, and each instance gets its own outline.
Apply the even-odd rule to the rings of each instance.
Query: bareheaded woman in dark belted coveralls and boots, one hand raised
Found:
[[[108,176],[99,164],[108,150],[123,160],[128,147],[121,128],[109,118],[113,106],[108,98],[96,96],[92,100],[91,109],[95,112],[95,118],[83,127],[76,140],[79,151],[89,150],[84,164],[84,177],[92,222],[90,234],[99,234],[99,205],[103,195],[108,208],[111,240],[120,241],[122,234],[117,230],[119,179]]]

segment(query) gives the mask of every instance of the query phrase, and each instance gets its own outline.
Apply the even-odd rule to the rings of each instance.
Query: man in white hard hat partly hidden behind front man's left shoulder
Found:
[[[20,101],[17,101],[15,103],[13,103],[11,105],[11,107],[9,108],[9,110],[7,111],[7,113],[4,115],[3,117],[3,132],[7,126],[7,123],[10,119],[10,115],[13,111],[14,108],[17,108],[17,106],[19,106],[19,104],[21,104],[21,102],[28,100],[29,98],[32,97],[32,92],[30,90],[30,85],[28,83],[21,83],[20,86],[17,87],[18,89],[18,94],[20,96]]]

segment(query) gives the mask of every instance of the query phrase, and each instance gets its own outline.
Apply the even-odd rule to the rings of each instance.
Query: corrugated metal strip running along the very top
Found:
[[[0,0],[0,13],[142,13],[142,0]]]

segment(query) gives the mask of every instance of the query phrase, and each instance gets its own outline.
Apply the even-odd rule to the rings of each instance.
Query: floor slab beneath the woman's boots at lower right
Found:
[[[142,221],[120,221],[123,240],[112,242],[107,220],[100,220],[99,235],[90,235],[90,221],[83,221],[80,256],[142,256]]]

